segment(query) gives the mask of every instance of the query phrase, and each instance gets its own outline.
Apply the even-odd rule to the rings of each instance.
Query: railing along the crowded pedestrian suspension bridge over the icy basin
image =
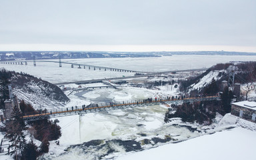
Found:
[[[71,113],[79,113],[82,111],[89,111],[93,109],[106,109],[111,107],[122,107],[122,106],[135,106],[135,105],[142,105],[142,104],[158,104],[161,102],[167,102],[167,101],[203,101],[205,100],[213,100],[218,99],[219,97],[216,95],[211,96],[198,96],[198,97],[163,97],[161,99],[159,98],[147,98],[147,99],[135,99],[130,101],[115,101],[111,103],[100,103],[100,104],[91,104],[91,105],[82,105],[82,106],[75,106],[75,107],[67,107],[62,109],[53,109],[50,111],[44,110],[44,111],[34,111],[29,113],[23,113],[23,119],[33,119],[33,117],[41,117],[41,119],[54,116],[54,115],[61,115],[61,114],[71,114]]]

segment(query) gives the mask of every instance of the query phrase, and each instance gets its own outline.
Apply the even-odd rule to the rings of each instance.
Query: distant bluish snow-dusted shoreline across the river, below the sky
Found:
[[[17,59],[91,59],[91,58],[127,58],[162,57],[172,55],[255,55],[249,52],[230,51],[160,51],[160,52],[107,52],[107,51],[0,51],[1,61]]]

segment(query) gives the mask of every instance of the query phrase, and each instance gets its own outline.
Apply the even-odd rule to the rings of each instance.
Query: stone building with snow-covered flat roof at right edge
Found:
[[[256,123],[256,102],[254,101],[241,101],[232,103],[231,115],[241,117],[248,121]]]

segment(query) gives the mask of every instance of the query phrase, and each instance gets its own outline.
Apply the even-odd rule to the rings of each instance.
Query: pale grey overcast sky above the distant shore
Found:
[[[256,52],[255,0],[0,0],[0,50]]]

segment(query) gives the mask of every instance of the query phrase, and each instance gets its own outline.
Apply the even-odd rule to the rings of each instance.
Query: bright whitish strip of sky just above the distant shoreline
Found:
[[[256,47],[236,45],[65,45],[0,44],[0,51],[192,52],[226,51],[256,53]]]

